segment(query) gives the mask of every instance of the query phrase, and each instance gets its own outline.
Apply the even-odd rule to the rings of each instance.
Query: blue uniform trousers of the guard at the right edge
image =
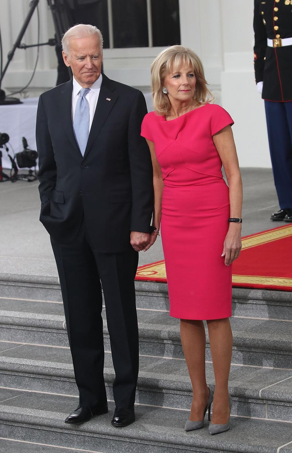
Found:
[[[292,101],[265,101],[265,111],[280,208],[292,208]]]

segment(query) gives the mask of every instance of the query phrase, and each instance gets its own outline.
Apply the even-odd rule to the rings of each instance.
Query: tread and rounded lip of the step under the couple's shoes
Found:
[[[6,390],[5,395],[5,391],[1,390],[1,400],[5,396],[10,398],[0,401],[0,420],[5,423],[25,423],[25,426],[38,425],[38,428],[45,427],[50,431],[58,429],[61,432],[82,433],[79,438],[98,434],[101,437],[127,439],[130,442],[139,439],[140,444],[168,444],[190,450],[204,448],[205,452],[215,450],[244,453],[276,453],[280,446],[292,441],[291,424],[245,417],[231,417],[231,429],[216,436],[209,435],[207,422],[204,429],[186,433],[183,427],[187,411],[143,405],[136,405],[136,423],[120,430],[110,424],[114,403],[109,403],[108,414],[78,427],[71,427],[65,425],[63,420],[78,404],[77,398],[33,391],[21,394],[17,390]],[[78,448],[78,439],[75,439],[74,446]],[[281,449],[281,453],[284,452],[292,452],[292,444]]]

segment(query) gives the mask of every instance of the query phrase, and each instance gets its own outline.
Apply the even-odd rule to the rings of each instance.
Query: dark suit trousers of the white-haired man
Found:
[[[129,233],[130,235],[130,233]],[[89,243],[85,222],[68,245],[51,237],[58,268],[80,406],[104,405],[102,290],[107,314],[116,405],[134,405],[139,337],[134,279],[138,252],[101,253]]]

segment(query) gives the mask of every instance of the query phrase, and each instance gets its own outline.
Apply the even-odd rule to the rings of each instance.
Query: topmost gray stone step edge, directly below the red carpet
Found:
[[[167,284],[136,281],[138,308],[168,310]],[[233,288],[233,314],[262,318],[290,319],[292,293],[266,289]],[[58,279],[0,274],[0,296],[7,298],[62,301]]]

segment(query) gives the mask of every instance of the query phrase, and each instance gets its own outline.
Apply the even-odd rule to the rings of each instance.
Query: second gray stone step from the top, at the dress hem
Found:
[[[3,308],[9,306],[6,299],[0,301]],[[12,307],[18,311],[0,311],[0,340],[68,346],[60,303],[13,300]],[[138,308],[137,313],[141,354],[183,357],[179,320],[167,310]],[[103,317],[105,347],[110,349],[105,311]],[[234,316],[231,325],[234,363],[292,368],[292,322]],[[208,335],[206,360],[211,360]]]

